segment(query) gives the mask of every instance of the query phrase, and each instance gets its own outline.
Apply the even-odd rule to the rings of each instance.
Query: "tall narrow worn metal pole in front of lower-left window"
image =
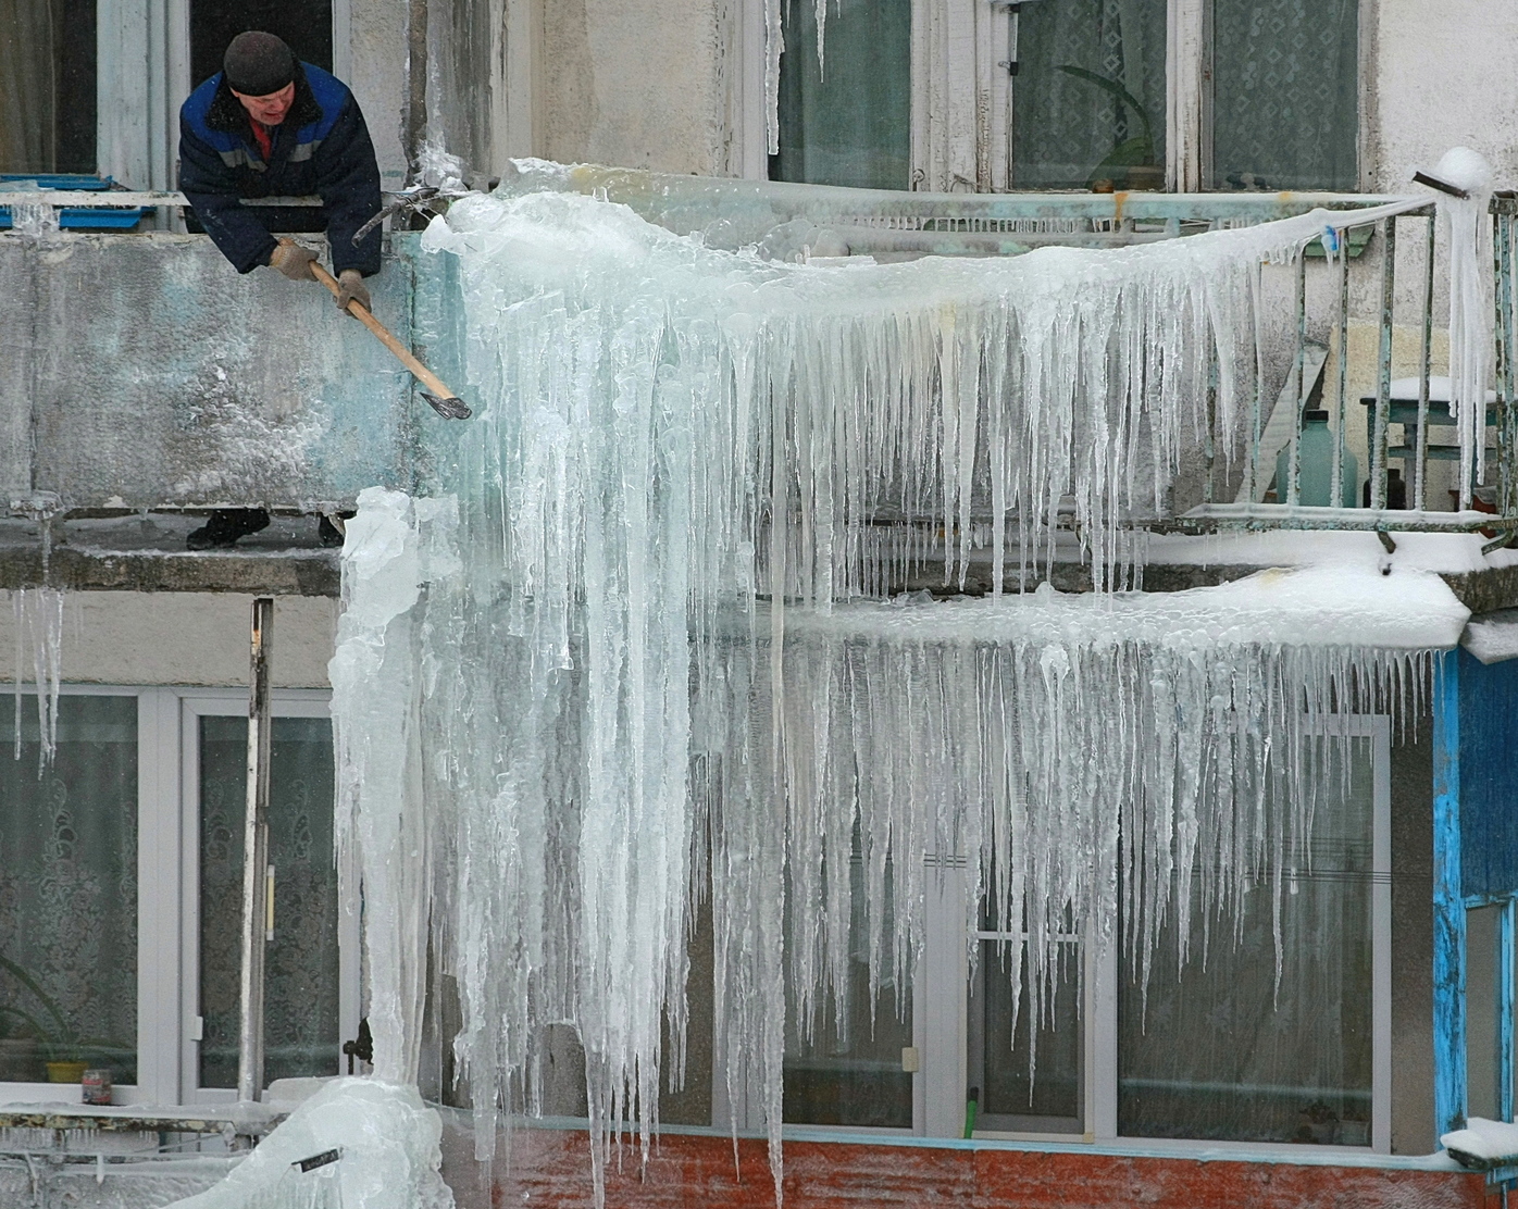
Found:
[[[264,1086],[264,941],[269,912],[269,660],[275,602],[254,601],[247,693],[247,812],[243,825],[243,969],[237,1098],[258,1100]]]

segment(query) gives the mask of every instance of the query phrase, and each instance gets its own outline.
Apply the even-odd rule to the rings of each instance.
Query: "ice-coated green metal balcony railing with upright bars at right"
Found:
[[[1290,218],[1313,209],[1371,211],[1406,202],[1386,194],[1342,193],[997,193],[929,194],[885,190],[849,190],[826,185],[756,182],[677,176],[600,165],[562,167],[545,161],[515,161],[515,173],[502,182],[509,191],[569,190],[630,206],[639,215],[677,234],[700,232],[709,244],[761,250],[782,258],[871,255],[876,259],[909,259],[923,255],[1016,256],[1037,247],[1125,247],[1184,238],[1204,231],[1255,226]],[[1216,366],[1210,375],[1207,429],[1192,452],[1195,496],[1178,501],[1169,514],[1132,516],[1132,528],[1155,532],[1211,534],[1269,529],[1325,529],[1377,532],[1390,545],[1392,532],[1475,532],[1491,535],[1486,549],[1507,545],[1518,531],[1518,410],[1513,405],[1518,347],[1513,287],[1513,220],[1518,194],[1498,193],[1491,206],[1492,288],[1495,306],[1495,393],[1488,400],[1488,440],[1494,446],[1485,478],[1466,470],[1457,487],[1454,510],[1433,505],[1430,458],[1457,455],[1453,446],[1430,441],[1430,426],[1448,423],[1439,413],[1441,378],[1435,375],[1435,317],[1445,305],[1436,281],[1444,252],[1439,250],[1439,218],[1433,202],[1350,225],[1340,237],[1345,255],[1327,255],[1315,241],[1289,270],[1295,288],[1284,306],[1295,306],[1289,340],[1278,352],[1286,361],[1255,381],[1249,402],[1249,426],[1242,457],[1228,457],[1216,429]],[[1404,246],[1404,276],[1409,262],[1416,270],[1413,288],[1400,288],[1398,238]],[[1360,265],[1362,252],[1365,256]],[[1327,259],[1330,288],[1309,290],[1309,261]],[[1318,270],[1315,270],[1318,272]],[[1316,308],[1310,303],[1316,300]],[[1356,306],[1353,299],[1359,299]],[[1324,305],[1327,303],[1327,305]],[[1356,314],[1359,309],[1359,316]],[[1284,320],[1284,316],[1281,317]],[[1354,341],[1351,326],[1374,329],[1374,387],[1366,404],[1365,493],[1345,484],[1345,441],[1354,423],[1356,400],[1350,397]],[[1394,379],[1394,331],[1415,332],[1416,372]],[[1327,337],[1327,338],[1313,338]],[[1263,364],[1263,363],[1261,363]],[[1447,379],[1445,379],[1447,381]],[[1280,390],[1261,382],[1280,382]],[[1322,402],[1315,402],[1321,399]],[[1365,507],[1315,507],[1302,504],[1301,434],[1309,410],[1330,410],[1333,423],[1330,501],[1354,496]],[[1430,425],[1430,408],[1433,425]],[[1404,440],[1392,443],[1401,425]],[[1277,458],[1286,481],[1275,484],[1277,502],[1266,496],[1277,475]],[[1403,488],[1395,482],[1401,463]],[[1401,499],[1398,496],[1406,493]],[[981,517],[978,517],[979,520]],[[988,519],[988,517],[985,517]]]

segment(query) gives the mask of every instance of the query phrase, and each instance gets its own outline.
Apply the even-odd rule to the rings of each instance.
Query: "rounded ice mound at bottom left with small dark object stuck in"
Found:
[[[168,1209],[452,1209],[442,1129],[413,1088],[337,1079],[225,1180]]]

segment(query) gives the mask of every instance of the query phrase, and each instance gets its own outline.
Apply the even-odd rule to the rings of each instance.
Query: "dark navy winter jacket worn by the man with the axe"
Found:
[[[352,243],[354,232],[380,212],[380,165],[354,94],[335,76],[301,64],[294,102],[270,137],[266,164],[247,111],[220,71],[181,106],[179,188],[216,246],[238,273],[269,264],[275,249],[269,223],[278,215],[238,205],[238,199],[316,194],[323,202],[332,272],[378,273],[380,228],[358,247]]]

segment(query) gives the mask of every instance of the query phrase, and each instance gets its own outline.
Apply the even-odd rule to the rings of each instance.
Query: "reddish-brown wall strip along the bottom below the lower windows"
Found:
[[[1448,1171],[1202,1162],[899,1145],[786,1142],[785,1209],[1480,1209],[1483,1179]],[[591,1201],[586,1136],[521,1130],[499,1209],[581,1209]],[[624,1147],[607,1173],[609,1209],[773,1209],[764,1142],[665,1135],[639,1173]]]

